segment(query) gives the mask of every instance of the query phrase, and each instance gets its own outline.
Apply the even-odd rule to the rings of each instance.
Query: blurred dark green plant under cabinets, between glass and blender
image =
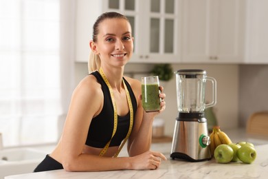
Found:
[[[172,66],[169,63],[155,64],[150,73],[158,76],[160,81],[170,81],[174,74]]]

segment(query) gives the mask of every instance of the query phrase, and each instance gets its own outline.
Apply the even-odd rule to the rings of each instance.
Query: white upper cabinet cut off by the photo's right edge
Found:
[[[268,64],[267,7],[267,0],[247,0],[245,63]]]

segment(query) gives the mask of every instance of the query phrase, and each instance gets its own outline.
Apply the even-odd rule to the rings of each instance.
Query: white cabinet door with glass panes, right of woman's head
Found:
[[[181,4],[177,0],[150,0],[148,14],[141,22],[144,34],[145,61],[179,62]]]

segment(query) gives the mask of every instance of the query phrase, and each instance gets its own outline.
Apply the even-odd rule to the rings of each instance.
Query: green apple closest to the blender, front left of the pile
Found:
[[[219,163],[231,162],[234,156],[234,150],[227,144],[221,144],[214,150],[214,158]]]

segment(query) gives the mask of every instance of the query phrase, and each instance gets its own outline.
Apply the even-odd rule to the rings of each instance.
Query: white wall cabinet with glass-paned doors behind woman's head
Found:
[[[89,40],[96,18],[120,12],[133,28],[131,63],[177,63],[181,49],[181,0],[76,1],[76,61],[87,62]]]

